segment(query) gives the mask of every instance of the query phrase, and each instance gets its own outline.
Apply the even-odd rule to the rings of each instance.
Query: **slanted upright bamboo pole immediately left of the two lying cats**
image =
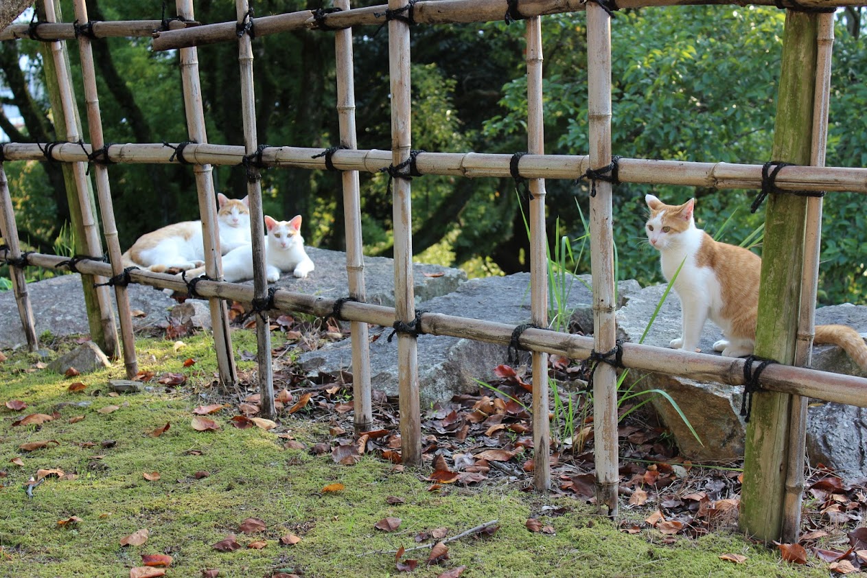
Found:
[[[75,0],[75,18],[78,22],[88,22],[88,8],[84,0]],[[102,134],[102,115],[100,99],[96,90],[96,72],[94,68],[94,53],[90,47],[88,36],[78,39],[78,51],[81,56],[81,75],[84,80],[84,99],[88,109],[88,129],[93,150],[105,144]],[[108,183],[108,167],[96,163],[92,167],[96,180],[96,194],[99,196],[102,216],[102,232],[108,247],[108,259],[112,273],[120,275],[123,272],[121,259],[121,243],[117,236],[117,224],[114,222],[114,205],[111,198],[111,185]],[[121,321],[121,343],[123,346],[123,364],[127,369],[127,378],[133,379],[139,373],[139,363],[135,357],[135,338],[133,336],[133,316],[129,307],[127,286],[114,285],[114,299],[117,302],[117,315]]]

